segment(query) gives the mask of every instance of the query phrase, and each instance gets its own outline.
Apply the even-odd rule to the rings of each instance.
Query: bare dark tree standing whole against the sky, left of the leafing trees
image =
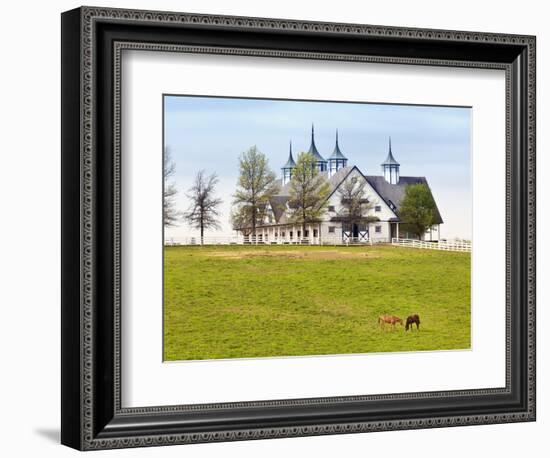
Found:
[[[191,205],[183,214],[188,224],[201,231],[201,245],[204,243],[205,229],[220,229],[218,222],[218,207],[221,199],[214,197],[214,190],[218,184],[218,177],[215,173],[206,176],[204,170],[199,170],[195,176],[193,186],[187,191],[187,198]]]

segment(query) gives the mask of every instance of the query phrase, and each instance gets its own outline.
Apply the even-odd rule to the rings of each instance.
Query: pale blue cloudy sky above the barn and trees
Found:
[[[382,175],[380,164],[392,152],[401,176],[428,180],[444,224],[441,237],[471,239],[471,109],[349,102],[164,96],[164,145],[176,165],[172,179],[177,208],[185,211],[185,193],[196,173],[216,173],[221,230],[207,236],[234,235],[229,215],[238,178],[239,155],[251,146],[264,153],[277,177],[286,163],[289,142],[296,159],[315,144],[327,159],[338,129],[339,145],[364,175]],[[196,236],[184,221],[167,228],[167,240]]]

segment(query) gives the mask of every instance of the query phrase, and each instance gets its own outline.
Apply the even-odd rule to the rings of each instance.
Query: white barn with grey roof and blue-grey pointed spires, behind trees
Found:
[[[354,242],[390,242],[392,238],[411,238],[411,234],[400,230],[399,206],[405,195],[407,185],[424,183],[425,177],[410,177],[400,175],[400,164],[395,160],[389,141],[388,155],[381,164],[382,175],[365,175],[356,166],[348,166],[348,159],[342,153],[336,131],[336,142],[332,154],[328,159],[317,150],[315,132],[311,129],[311,144],[308,150],[317,159],[320,173],[326,174],[331,192],[328,197],[327,210],[320,221],[307,224],[305,234],[302,234],[300,223],[293,223],[289,219],[289,182],[292,170],[295,167],[292,155],[292,144],[286,164],[281,168],[280,191],[270,200],[266,216],[262,224],[256,228],[259,241],[267,243],[299,243],[308,239],[309,243],[346,243]],[[353,224],[347,227],[338,217],[342,208],[338,189],[346,180],[356,179],[365,182],[365,194],[374,207],[369,215],[378,218],[370,224]],[[428,185],[429,187],[429,185]],[[439,225],[443,223],[436,206],[436,225],[424,234],[425,240],[439,239]]]

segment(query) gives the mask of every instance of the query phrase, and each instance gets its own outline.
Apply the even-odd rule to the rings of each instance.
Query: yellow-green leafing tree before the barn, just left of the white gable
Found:
[[[290,219],[302,225],[302,237],[308,223],[317,222],[327,208],[330,185],[319,173],[313,154],[300,153],[292,171],[288,206]]]

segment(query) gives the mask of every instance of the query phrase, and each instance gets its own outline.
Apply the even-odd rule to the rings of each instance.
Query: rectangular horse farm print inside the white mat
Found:
[[[163,94],[163,360],[470,350],[471,117]]]

